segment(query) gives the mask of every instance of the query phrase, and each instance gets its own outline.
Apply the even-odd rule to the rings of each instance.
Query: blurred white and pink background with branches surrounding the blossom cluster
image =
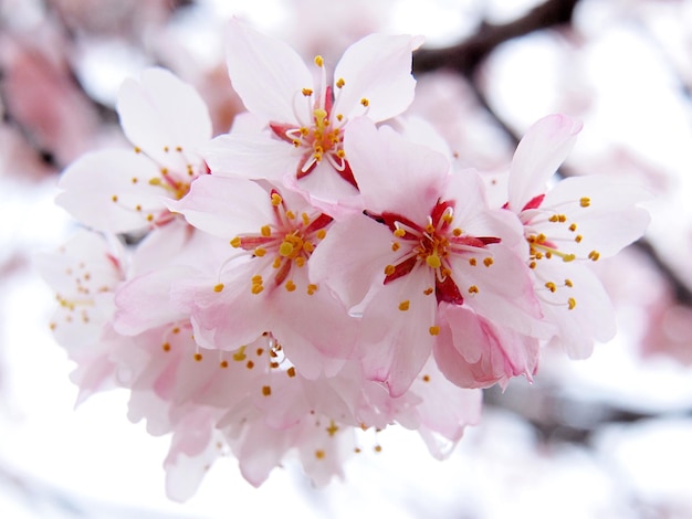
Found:
[[[127,394],[74,409],[32,258],[76,229],[53,204],[61,170],[125,144],[125,77],[172,70],[228,130],[242,109],[223,59],[232,15],[327,63],[370,32],[423,34],[411,112],[490,174],[536,119],[581,118],[560,173],[654,194],[646,237],[598,265],[618,336],[586,361],[545,351],[533,384],[486,391],[445,462],[387,430],[324,489],[292,466],[254,489],[222,459],[189,502],[168,501],[168,438],[127,421]],[[689,0],[0,0],[0,516],[692,517],[691,94]]]

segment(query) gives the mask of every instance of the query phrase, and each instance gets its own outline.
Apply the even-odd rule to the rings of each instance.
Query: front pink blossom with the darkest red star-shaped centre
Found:
[[[521,226],[487,208],[476,173],[450,174],[442,156],[367,119],[352,128],[346,150],[366,210],[334,224],[311,274],[363,315],[367,377],[402,394],[433,345],[449,337],[440,337],[441,327],[458,326],[440,319],[445,305],[539,332],[528,269],[511,248]]]

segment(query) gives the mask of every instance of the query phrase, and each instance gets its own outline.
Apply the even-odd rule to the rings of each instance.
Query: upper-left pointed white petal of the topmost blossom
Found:
[[[303,88],[313,88],[313,77],[293,49],[231,20],[227,63],[233,88],[250,112],[277,123],[296,121],[294,102],[303,100]]]

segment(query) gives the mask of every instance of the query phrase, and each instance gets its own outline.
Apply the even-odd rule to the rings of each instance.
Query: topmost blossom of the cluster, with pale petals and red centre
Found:
[[[262,130],[245,131],[237,125],[230,135],[214,139],[206,153],[210,168],[220,174],[283,182],[327,206],[356,194],[344,130],[354,117],[380,121],[408,107],[416,84],[411,52],[420,39],[366,36],[346,50],[332,83],[319,55],[314,60],[315,80],[284,43],[235,20],[229,34],[233,88]]]

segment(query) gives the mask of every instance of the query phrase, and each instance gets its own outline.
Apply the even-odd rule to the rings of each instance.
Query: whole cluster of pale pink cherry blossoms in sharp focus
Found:
[[[42,258],[81,398],[126,388],[133,421],[172,433],[172,498],[229,454],[253,485],[296,454],[324,484],[392,424],[442,458],[481,389],[531,381],[543,346],[584,358],[615,333],[589,264],[642,234],[646,193],[549,187],[578,121],[537,121],[493,205],[405,114],[419,39],[367,36],[334,67],[237,21],[228,41],[248,110],[231,131],[212,139],[169,72],[126,82],[134,149],[66,169],[57,202],[90,230]]]

